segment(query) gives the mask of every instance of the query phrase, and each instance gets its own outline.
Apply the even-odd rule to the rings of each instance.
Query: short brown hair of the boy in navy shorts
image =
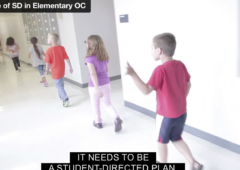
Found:
[[[165,55],[172,57],[174,55],[177,43],[173,34],[163,33],[156,35],[153,38],[153,45],[155,48],[161,48]]]

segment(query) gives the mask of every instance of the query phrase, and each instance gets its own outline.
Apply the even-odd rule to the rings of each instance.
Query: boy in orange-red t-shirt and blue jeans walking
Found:
[[[45,55],[45,62],[46,64],[46,73],[48,74],[50,66],[51,65],[51,74],[52,78],[55,81],[56,87],[58,89],[58,94],[63,101],[63,106],[68,107],[69,106],[69,98],[68,95],[64,89],[64,81],[63,77],[65,75],[65,60],[67,61],[70,73],[73,73],[72,65],[70,62],[70,59],[65,51],[65,48],[63,46],[60,46],[57,44],[58,41],[58,35],[55,33],[49,33],[48,34],[48,44],[51,44],[52,47],[50,47],[46,51]]]

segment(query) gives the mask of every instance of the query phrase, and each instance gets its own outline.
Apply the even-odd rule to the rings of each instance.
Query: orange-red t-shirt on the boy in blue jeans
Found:
[[[65,59],[69,59],[63,46],[52,46],[46,51],[45,62],[51,65],[53,79],[60,79],[65,74]]]

